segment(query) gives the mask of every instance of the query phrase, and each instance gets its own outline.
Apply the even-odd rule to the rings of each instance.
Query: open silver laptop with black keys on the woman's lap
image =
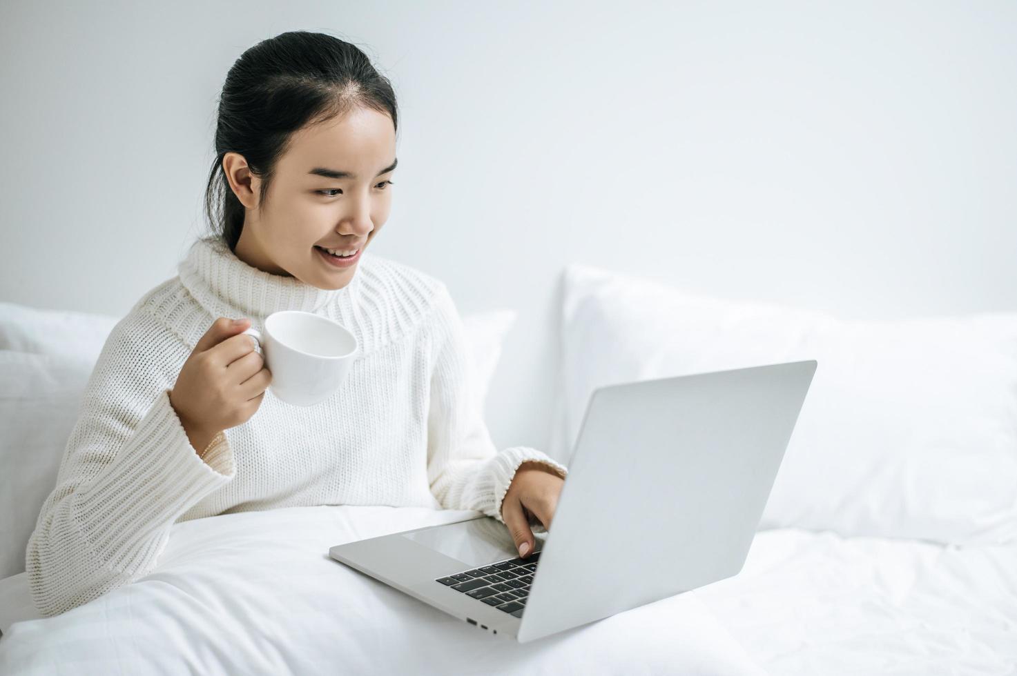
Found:
[[[483,514],[328,553],[520,642],[730,577],[815,372],[809,360],[596,388],[553,537],[534,527],[526,557]]]

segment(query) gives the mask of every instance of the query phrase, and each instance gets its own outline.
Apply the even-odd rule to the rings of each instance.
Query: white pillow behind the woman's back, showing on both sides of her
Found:
[[[463,317],[481,411],[515,310]],[[0,578],[24,570],[96,360],[116,317],[0,303]]]

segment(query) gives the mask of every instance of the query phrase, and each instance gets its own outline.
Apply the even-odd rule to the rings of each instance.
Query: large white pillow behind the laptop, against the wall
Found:
[[[574,264],[561,340],[556,452],[595,387],[815,359],[761,528],[1017,541],[1017,313],[847,321]]]

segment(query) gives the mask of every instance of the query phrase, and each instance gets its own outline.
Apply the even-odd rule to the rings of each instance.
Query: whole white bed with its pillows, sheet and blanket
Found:
[[[1017,315],[846,321],[563,280],[562,462],[597,386],[818,360],[738,574],[520,646],[327,556],[475,512],[295,507],[175,524],[155,571],[41,618],[23,546],[117,318],[0,304],[0,672],[1017,674]],[[464,317],[480,396],[514,317]]]

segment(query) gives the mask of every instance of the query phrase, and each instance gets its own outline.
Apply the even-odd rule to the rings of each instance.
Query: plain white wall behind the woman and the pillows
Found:
[[[6,0],[0,297],[122,314],[176,274],[226,72],[297,28],[396,86],[375,252],[520,311],[499,446],[546,447],[570,261],[850,317],[1017,307],[1017,3],[984,1]]]

